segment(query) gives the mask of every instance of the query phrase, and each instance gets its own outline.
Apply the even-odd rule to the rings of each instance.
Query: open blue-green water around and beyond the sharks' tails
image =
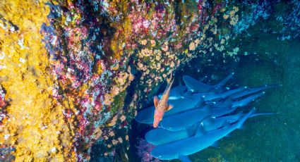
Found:
[[[215,66],[216,60],[209,66],[193,60],[191,67],[186,66],[176,77],[208,75],[206,82],[215,83],[234,71],[232,86],[282,84],[246,106],[246,110],[256,107],[257,112],[278,114],[248,119],[244,130],[221,139],[220,148],[209,147],[191,155],[192,161],[300,161],[300,41],[280,40],[274,33],[262,32],[259,27],[263,23],[272,22],[254,26],[250,33],[256,37],[241,40],[245,42],[241,51],[247,51],[248,55],[241,56],[239,61],[229,58],[228,63],[219,62]],[[139,135],[143,137],[148,129],[143,127]]]

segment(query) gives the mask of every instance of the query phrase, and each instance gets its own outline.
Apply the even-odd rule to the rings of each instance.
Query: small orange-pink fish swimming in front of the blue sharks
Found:
[[[172,73],[169,79],[167,79],[168,85],[166,89],[164,90],[164,93],[162,94],[162,98],[158,99],[158,96],[154,97],[154,106],[155,106],[155,112],[154,112],[154,121],[153,121],[153,127],[157,127],[160,121],[162,120],[162,117],[164,116],[164,111],[169,111],[173,108],[172,104],[169,104],[169,93],[170,89],[173,84],[172,79]]]

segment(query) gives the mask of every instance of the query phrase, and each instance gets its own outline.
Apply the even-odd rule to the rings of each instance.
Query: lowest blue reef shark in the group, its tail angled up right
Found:
[[[187,139],[182,139],[169,144],[162,144],[156,146],[151,151],[151,155],[155,158],[160,158],[161,160],[172,160],[179,158],[182,161],[189,161],[188,155],[195,154],[207,147],[214,146],[219,139],[229,135],[230,132],[241,128],[244,122],[251,116],[254,112],[252,109],[249,113],[241,118],[237,123],[230,125],[227,123],[223,128],[218,130],[212,130],[209,132],[204,132],[199,127],[196,135]]]

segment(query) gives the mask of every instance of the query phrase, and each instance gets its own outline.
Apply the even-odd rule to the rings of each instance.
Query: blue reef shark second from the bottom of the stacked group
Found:
[[[272,115],[274,113],[252,113],[249,118],[255,117],[255,116],[265,116],[265,115]],[[175,142],[180,139],[186,139],[188,137],[193,137],[196,133],[196,130],[198,127],[202,126],[203,131],[207,132],[210,130],[217,130],[224,126],[225,123],[235,123],[240,118],[246,116],[246,113],[238,113],[236,115],[232,116],[222,116],[219,118],[205,118],[199,123],[196,123],[195,125],[192,125],[190,127],[186,127],[184,130],[165,130],[162,127],[159,127],[154,130],[150,130],[145,134],[145,139],[150,144],[154,145],[160,145],[160,144],[167,144],[170,142]]]

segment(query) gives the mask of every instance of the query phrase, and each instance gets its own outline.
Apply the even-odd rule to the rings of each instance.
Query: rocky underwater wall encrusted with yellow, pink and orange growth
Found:
[[[131,120],[171,70],[239,61],[277,4],[289,39],[289,3],[1,1],[0,161],[129,161]]]

